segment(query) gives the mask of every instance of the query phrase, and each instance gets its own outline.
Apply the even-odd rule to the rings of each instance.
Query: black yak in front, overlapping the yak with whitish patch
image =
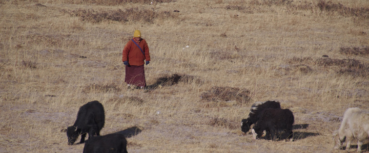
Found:
[[[254,138],[261,138],[265,130],[265,138],[272,140],[290,139],[293,137],[292,125],[295,122],[289,109],[265,109],[253,127]]]

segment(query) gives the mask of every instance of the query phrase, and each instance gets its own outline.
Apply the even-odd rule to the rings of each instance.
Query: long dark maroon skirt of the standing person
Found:
[[[125,82],[130,85],[138,87],[146,87],[145,67],[141,66],[127,66],[126,65],[126,79]]]

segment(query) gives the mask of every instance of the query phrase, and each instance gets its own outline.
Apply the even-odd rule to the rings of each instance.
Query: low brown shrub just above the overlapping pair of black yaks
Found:
[[[241,104],[250,101],[250,91],[235,87],[212,87],[210,91],[201,94],[202,100],[208,101],[230,101],[235,100]]]

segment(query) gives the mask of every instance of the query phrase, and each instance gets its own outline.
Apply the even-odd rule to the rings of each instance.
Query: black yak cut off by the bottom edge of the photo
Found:
[[[86,140],[84,153],[128,153],[127,140],[123,134],[108,134]]]

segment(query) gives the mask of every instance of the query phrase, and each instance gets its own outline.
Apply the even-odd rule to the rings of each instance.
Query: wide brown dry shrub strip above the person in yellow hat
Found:
[[[62,10],[72,16],[80,17],[82,21],[98,23],[101,21],[142,21],[153,23],[155,19],[176,18],[178,15],[170,11],[155,12],[153,9],[127,8],[125,10],[93,10],[93,9],[77,9]]]

